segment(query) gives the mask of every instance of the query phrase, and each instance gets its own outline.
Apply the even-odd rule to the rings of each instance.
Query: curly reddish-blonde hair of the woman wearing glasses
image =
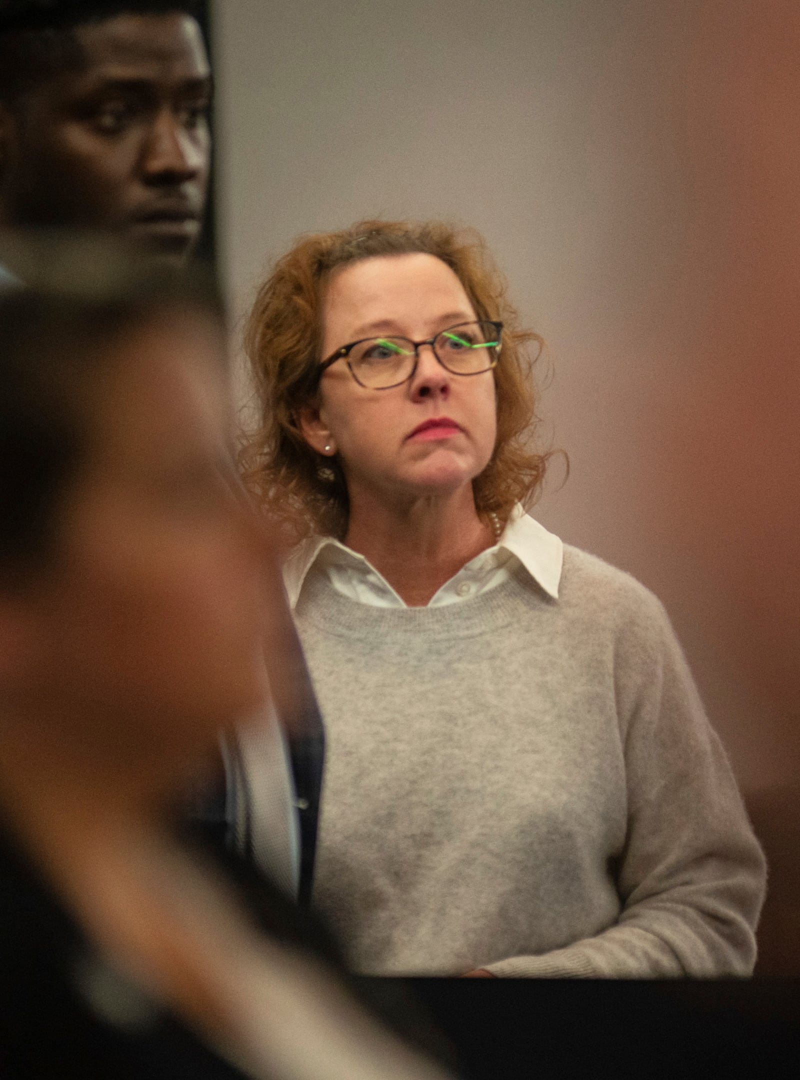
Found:
[[[351,262],[413,253],[442,259],[463,285],[477,318],[504,324],[502,354],[493,369],[497,441],[489,463],[473,481],[478,514],[497,514],[504,523],[516,502],[529,507],[540,494],[552,456],[530,447],[539,424],[532,366],[543,341],[520,327],[505,280],[483,239],[442,221],[358,221],[338,232],[302,237],[259,288],[246,324],[257,422],[243,442],[242,471],[290,541],[312,532],[343,539],[348,526],[341,464],[313,450],[298,422],[300,410],[317,402],[325,282]]]

